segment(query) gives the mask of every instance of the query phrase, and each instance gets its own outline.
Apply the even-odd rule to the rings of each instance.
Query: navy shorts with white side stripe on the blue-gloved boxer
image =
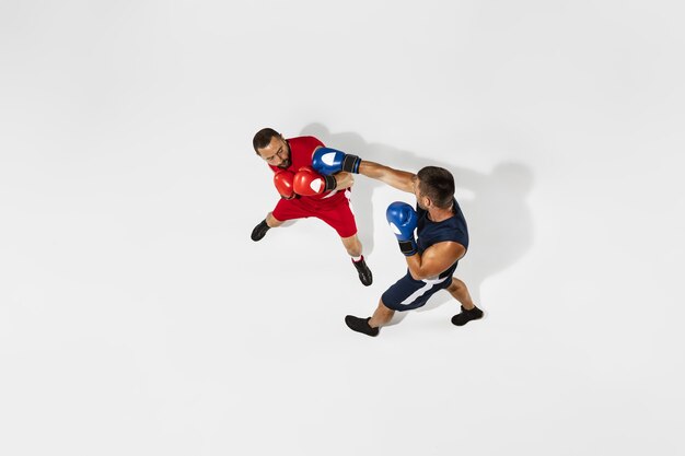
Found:
[[[415,280],[407,274],[388,288],[381,296],[383,304],[393,311],[410,311],[421,307],[430,296],[452,284],[452,274],[443,279]]]

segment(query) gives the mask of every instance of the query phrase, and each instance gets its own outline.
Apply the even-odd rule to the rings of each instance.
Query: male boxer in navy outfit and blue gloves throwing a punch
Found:
[[[440,290],[450,292],[462,305],[462,312],[452,317],[454,325],[463,326],[483,317],[466,284],[453,277],[468,248],[468,230],[454,198],[454,177],[449,171],[426,166],[413,174],[327,148],[314,152],[312,166],[323,175],[339,171],[358,173],[416,196],[416,210],[406,202],[395,201],[385,213],[405,255],[407,274],[383,293],[373,316],[348,315],[345,323],[350,329],[378,336],[379,328],[395,312],[421,307]]]

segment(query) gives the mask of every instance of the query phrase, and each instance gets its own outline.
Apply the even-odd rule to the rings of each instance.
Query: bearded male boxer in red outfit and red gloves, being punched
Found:
[[[370,285],[373,276],[364,261],[350,208],[352,175],[341,171],[324,176],[312,169],[314,151],[324,147],[314,137],[285,139],[276,130],[264,128],[255,135],[253,147],[274,171],[274,185],[281,199],[252,231],[252,239],[260,241],[269,229],[287,220],[315,217],[338,233],[359,280]]]

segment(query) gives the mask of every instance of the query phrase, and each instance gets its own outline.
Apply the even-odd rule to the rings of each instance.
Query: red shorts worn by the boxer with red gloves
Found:
[[[330,201],[306,197],[281,199],[276,204],[272,215],[281,222],[315,217],[337,231],[340,237],[350,237],[357,234],[357,223],[349,198],[350,190],[345,189],[330,197]]]

